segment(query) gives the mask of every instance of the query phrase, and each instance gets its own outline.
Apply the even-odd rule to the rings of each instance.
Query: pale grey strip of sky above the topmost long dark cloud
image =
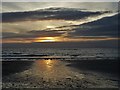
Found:
[[[49,7],[67,7],[90,10],[112,10],[118,9],[117,2],[3,2],[3,12],[29,11]]]

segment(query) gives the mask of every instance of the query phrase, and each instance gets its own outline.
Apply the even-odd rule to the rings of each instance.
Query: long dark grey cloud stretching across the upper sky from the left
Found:
[[[101,15],[105,12],[84,12],[73,8],[48,8],[28,12],[3,13],[3,22],[36,21],[36,20],[78,20],[88,16]]]

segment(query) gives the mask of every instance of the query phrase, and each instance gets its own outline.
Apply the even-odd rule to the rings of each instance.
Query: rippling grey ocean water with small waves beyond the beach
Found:
[[[115,48],[3,48],[2,60],[101,60],[118,58]]]

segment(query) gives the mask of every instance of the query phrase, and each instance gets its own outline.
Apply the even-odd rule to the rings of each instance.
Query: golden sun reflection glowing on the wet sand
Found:
[[[60,60],[36,60],[34,61],[30,73],[34,77],[42,77],[45,80],[61,80],[64,78],[83,78],[83,75],[67,67],[67,62]]]

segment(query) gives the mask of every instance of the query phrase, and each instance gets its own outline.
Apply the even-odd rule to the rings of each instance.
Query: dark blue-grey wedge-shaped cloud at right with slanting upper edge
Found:
[[[78,25],[71,36],[106,36],[118,37],[118,15],[105,17],[103,19]]]

